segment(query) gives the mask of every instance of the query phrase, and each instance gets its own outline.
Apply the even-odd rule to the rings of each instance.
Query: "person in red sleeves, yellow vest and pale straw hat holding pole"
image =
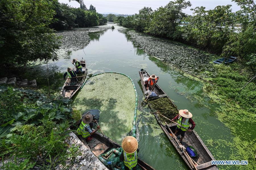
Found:
[[[182,139],[185,136],[185,132],[191,132],[195,128],[195,122],[192,120],[192,114],[187,110],[179,110],[179,114],[172,119],[172,121],[178,120],[178,124],[183,126],[184,128],[181,128],[181,126],[176,126],[175,135],[181,135],[181,138],[179,139],[180,143],[182,142]],[[189,128],[189,125],[192,125],[191,128]]]

